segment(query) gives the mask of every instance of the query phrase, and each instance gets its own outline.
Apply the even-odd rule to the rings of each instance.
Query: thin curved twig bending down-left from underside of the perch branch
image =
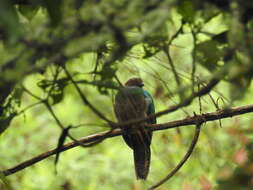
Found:
[[[188,160],[188,158],[191,156],[195,145],[198,142],[198,138],[199,138],[199,133],[200,133],[200,126],[201,124],[196,124],[196,129],[195,129],[195,134],[194,134],[194,138],[191,142],[191,145],[188,149],[188,151],[186,152],[185,156],[183,157],[183,159],[178,163],[178,165],[166,176],[164,177],[161,181],[159,181],[158,183],[156,183],[155,185],[153,185],[152,187],[148,188],[147,190],[154,190],[157,187],[161,186],[162,184],[164,184],[166,181],[168,181],[171,177],[173,177],[178,171],[179,169],[184,165],[184,163]]]

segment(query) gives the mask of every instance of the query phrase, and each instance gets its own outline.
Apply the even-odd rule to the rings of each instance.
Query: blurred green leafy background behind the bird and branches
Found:
[[[60,95],[48,96],[49,85],[44,88],[43,85],[54,81],[57,68],[65,59],[67,69],[79,81],[85,96],[113,121],[116,91],[108,86],[117,84],[115,76],[123,83],[132,76],[140,76],[154,96],[157,111],[181,102],[192,88],[197,91],[211,78],[222,80],[210,95],[201,98],[201,106],[196,99],[186,108],[159,117],[158,123],[194,112],[251,104],[253,6],[250,3],[34,2],[0,3],[1,98],[8,92],[1,100],[1,127],[8,127],[0,136],[1,170],[55,148],[61,134],[43,104],[26,109],[38,100],[26,93],[23,86],[41,98],[49,97],[64,126],[80,125],[71,129],[76,138],[109,129],[83,105],[74,86],[64,83],[63,70],[57,77],[64,79],[56,90]],[[12,119],[13,113],[19,114]],[[8,125],[4,124],[6,118],[11,118]],[[252,151],[249,146],[252,122],[248,114],[222,120],[222,127],[219,121],[206,123],[189,161],[158,189],[250,189],[251,157],[246,152],[250,155]],[[114,137],[90,148],[77,147],[61,153],[57,166],[54,157],[43,160],[6,177],[9,187],[2,184],[0,188],[144,189],[179,162],[193,131],[192,127],[182,127],[155,132],[147,181],[135,180],[132,152],[121,137]]]

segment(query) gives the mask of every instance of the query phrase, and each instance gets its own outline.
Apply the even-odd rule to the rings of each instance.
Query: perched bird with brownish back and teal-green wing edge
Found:
[[[119,123],[155,113],[153,98],[143,86],[141,78],[133,77],[119,89],[114,102],[114,112]],[[152,132],[145,129],[145,123],[156,124],[156,118],[121,127],[125,143],[133,150],[137,180],[146,180],[150,167]]]

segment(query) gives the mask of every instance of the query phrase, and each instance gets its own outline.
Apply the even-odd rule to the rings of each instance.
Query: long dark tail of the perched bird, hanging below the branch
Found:
[[[150,165],[150,147],[149,146],[135,146],[133,148],[134,165],[137,179],[145,180],[148,176]]]

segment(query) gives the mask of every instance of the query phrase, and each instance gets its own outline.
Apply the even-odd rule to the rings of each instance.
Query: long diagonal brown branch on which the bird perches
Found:
[[[246,114],[246,113],[250,113],[250,112],[253,112],[253,104],[248,105],[248,106],[237,107],[237,108],[224,109],[224,110],[220,110],[217,112],[211,112],[211,113],[206,113],[206,114],[202,114],[202,115],[194,115],[192,117],[187,117],[187,118],[184,118],[181,120],[175,120],[175,121],[171,121],[171,122],[164,123],[164,124],[155,124],[155,125],[149,124],[149,125],[147,125],[147,128],[148,128],[148,130],[152,130],[152,131],[165,130],[165,129],[170,129],[170,128],[195,125],[196,122],[199,124],[202,124],[204,122],[229,118],[229,117],[233,117],[236,115],[242,115],[242,114]],[[92,143],[92,142],[96,142],[101,139],[104,140],[104,139],[119,136],[119,135],[122,135],[122,131],[120,129],[114,129],[111,131],[105,131],[105,132],[96,133],[96,134],[93,134],[90,136],[83,137],[79,140],[79,143],[80,142],[81,143]],[[14,167],[4,170],[2,172],[5,176],[14,174],[14,173],[16,173],[20,170],[23,170],[33,164],[36,164],[37,162],[40,162],[40,161],[46,159],[47,157],[52,156],[58,152],[63,152],[68,149],[77,147],[79,145],[79,143],[77,143],[76,141],[67,143],[64,146],[62,146],[59,150],[53,149],[48,152],[42,153],[38,156],[33,157],[32,159],[22,162],[22,163],[18,164],[17,166],[14,166]]]

